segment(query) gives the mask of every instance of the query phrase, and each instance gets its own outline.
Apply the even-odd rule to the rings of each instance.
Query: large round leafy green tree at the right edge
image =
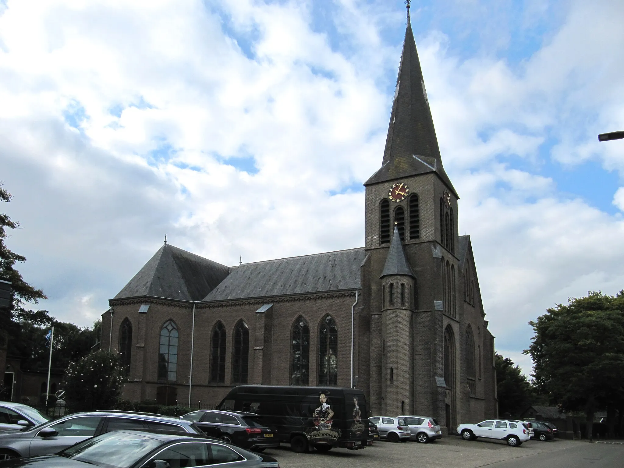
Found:
[[[567,411],[585,411],[587,437],[593,414],[624,397],[624,291],[590,292],[569,299],[529,322],[535,382]]]

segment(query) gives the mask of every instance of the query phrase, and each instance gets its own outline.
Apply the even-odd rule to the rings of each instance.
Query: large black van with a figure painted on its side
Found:
[[[357,389],[241,385],[217,409],[259,414],[295,452],[310,447],[319,452],[332,447],[357,450],[368,441],[366,398]]]

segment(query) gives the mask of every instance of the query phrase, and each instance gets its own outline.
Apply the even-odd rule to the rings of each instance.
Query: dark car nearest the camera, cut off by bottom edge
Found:
[[[161,431],[165,432],[165,431]],[[280,468],[278,462],[202,435],[114,431],[56,455],[0,462],[1,468],[182,468],[230,463],[236,468]]]

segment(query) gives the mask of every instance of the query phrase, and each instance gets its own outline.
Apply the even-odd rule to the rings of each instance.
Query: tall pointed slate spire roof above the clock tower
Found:
[[[442,167],[408,10],[407,29],[382,166],[364,185],[427,172],[436,172],[457,196]]]

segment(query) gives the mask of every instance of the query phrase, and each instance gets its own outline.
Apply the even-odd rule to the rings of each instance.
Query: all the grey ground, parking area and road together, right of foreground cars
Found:
[[[624,446],[583,441],[528,441],[509,447],[499,441],[462,441],[444,437],[433,444],[375,442],[373,447],[351,451],[333,449],[321,454],[296,454],[288,445],[267,450],[280,468],[379,468],[424,466],[427,468],[624,468]]]

